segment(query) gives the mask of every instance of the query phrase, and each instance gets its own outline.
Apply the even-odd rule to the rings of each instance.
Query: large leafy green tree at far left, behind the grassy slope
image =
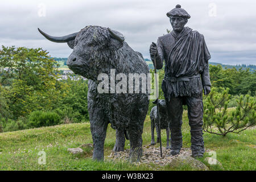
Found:
[[[5,98],[10,100],[15,118],[34,110],[52,109],[60,96],[56,67],[56,61],[41,48],[2,46],[0,68],[6,68],[6,77],[12,78]]]

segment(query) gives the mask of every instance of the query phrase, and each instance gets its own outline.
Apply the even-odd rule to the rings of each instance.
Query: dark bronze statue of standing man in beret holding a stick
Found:
[[[187,105],[192,156],[201,157],[204,154],[202,97],[203,89],[204,94],[210,93],[210,53],[204,36],[184,27],[190,18],[187,11],[177,5],[167,16],[173,31],[160,36],[157,44],[151,44],[150,55],[152,60],[156,57],[156,69],[162,69],[165,61],[162,90],[171,130],[171,155],[179,154],[182,147],[183,105]]]

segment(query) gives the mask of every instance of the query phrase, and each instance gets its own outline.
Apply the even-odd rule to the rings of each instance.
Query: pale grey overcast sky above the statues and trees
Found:
[[[151,42],[171,29],[166,13],[177,4],[191,15],[187,26],[204,35],[211,62],[256,64],[255,0],[1,0],[0,45],[42,47],[52,57],[68,57],[72,50],[66,43],[49,42],[37,28],[63,36],[98,25],[121,32],[148,58]]]

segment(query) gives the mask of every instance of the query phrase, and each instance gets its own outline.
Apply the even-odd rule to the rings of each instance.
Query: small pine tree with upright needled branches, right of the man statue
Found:
[[[249,95],[240,96],[235,110],[228,110],[229,89],[222,93],[213,88],[204,103],[204,131],[226,136],[228,133],[240,133],[255,125],[256,100]]]

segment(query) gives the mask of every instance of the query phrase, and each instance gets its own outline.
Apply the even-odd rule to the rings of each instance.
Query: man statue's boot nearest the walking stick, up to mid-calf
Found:
[[[171,155],[177,155],[180,153],[182,147],[182,133],[181,127],[171,128]]]

